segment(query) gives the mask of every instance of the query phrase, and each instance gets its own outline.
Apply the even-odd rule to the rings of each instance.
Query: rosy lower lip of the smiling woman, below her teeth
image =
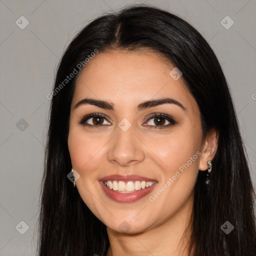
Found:
[[[100,180],[99,183],[102,186],[106,196],[108,196],[110,199],[116,202],[135,202],[149,194],[157,182],[153,183],[151,186],[147,188],[136,190],[135,192],[132,193],[119,193],[114,191],[113,189],[108,188],[104,184],[104,181]]]

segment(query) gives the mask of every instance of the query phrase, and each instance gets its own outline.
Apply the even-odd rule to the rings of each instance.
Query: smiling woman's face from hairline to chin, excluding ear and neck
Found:
[[[155,53],[99,52],[77,80],[68,135],[75,184],[115,231],[142,232],[191,210],[201,120],[173,68]]]

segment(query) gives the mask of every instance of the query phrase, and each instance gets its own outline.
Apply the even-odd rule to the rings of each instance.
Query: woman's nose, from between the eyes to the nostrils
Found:
[[[109,141],[108,161],[127,166],[144,160],[143,143],[134,131],[133,125],[126,131],[116,127],[116,135]]]

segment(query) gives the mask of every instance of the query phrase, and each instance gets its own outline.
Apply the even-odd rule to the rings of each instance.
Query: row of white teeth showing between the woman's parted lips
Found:
[[[133,181],[116,181],[116,180],[104,180],[104,184],[110,188],[113,189],[114,191],[118,192],[134,192],[135,190],[140,190],[144,189],[146,187],[151,186],[155,181],[140,181],[136,180],[135,182]]]

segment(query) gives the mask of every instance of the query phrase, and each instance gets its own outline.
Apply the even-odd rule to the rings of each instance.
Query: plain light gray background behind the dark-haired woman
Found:
[[[210,43],[231,89],[256,184],[255,0],[0,0],[1,256],[35,255],[50,103],[46,95],[61,54],[89,20],[129,3],[169,10]],[[24,29],[15,23],[22,15],[29,21]],[[229,29],[221,24],[226,15],[234,21]],[[19,232],[25,230],[22,220],[29,226],[24,234]]]

